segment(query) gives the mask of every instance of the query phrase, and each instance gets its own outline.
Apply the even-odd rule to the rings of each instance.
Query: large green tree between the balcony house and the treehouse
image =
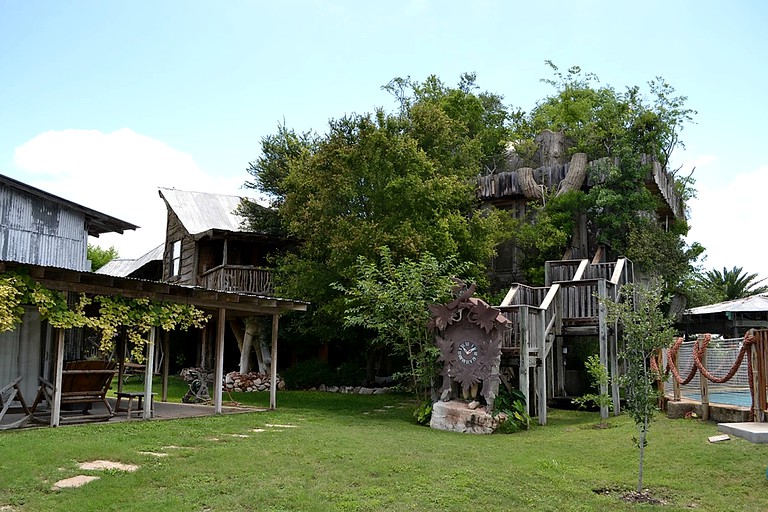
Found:
[[[278,262],[279,292],[313,303],[302,320],[310,339],[339,338],[345,304],[330,284],[351,286],[359,257],[376,258],[381,246],[396,263],[455,257],[482,280],[503,236],[504,216],[481,209],[474,193],[508,137],[500,97],[477,92],[473,75],[456,88],[436,77],[384,88],[397,112],[334,119],[324,135],[280,127],[248,169],[246,185],[271,197],[273,225],[301,240]],[[263,220],[250,219],[256,228]]]

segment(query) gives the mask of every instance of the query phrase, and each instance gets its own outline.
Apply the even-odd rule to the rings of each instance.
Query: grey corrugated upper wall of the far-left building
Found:
[[[0,259],[90,270],[85,215],[0,184]]]

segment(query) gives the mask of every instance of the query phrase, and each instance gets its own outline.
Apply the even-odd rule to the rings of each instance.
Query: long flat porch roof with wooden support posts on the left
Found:
[[[0,273],[14,271],[27,274],[30,278],[52,290],[62,292],[86,293],[91,295],[119,295],[129,298],[143,298],[157,301],[167,301],[188,304],[212,313],[217,319],[216,348],[214,355],[214,380],[221,383],[224,377],[224,334],[227,318],[248,317],[254,315],[269,315],[272,317],[272,361],[270,365],[270,409],[276,407],[277,392],[277,332],[278,319],[286,311],[306,311],[307,302],[266,297],[242,292],[209,290],[200,287],[175,285],[158,281],[114,277],[92,272],[79,272],[55,267],[42,267],[15,262],[0,262]],[[156,329],[150,330],[149,350],[145,374],[152,375],[154,368],[154,350]],[[59,424],[61,412],[61,383],[64,368],[64,329],[56,329],[54,353],[54,394],[51,405],[51,426]],[[167,343],[167,341],[166,341]],[[167,350],[166,350],[167,353]],[[120,361],[119,372],[122,375],[124,358]],[[169,358],[163,362],[163,399],[167,397]],[[144,396],[152,393],[152,379],[144,379]],[[222,412],[222,387],[214,386],[214,412]],[[143,401],[143,417],[151,417],[151,400]]]

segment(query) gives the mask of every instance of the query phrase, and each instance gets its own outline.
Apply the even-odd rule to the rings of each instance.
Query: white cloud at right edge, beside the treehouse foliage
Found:
[[[768,277],[768,220],[762,197],[768,190],[768,165],[735,176],[722,187],[701,187],[690,201],[689,241],[706,249],[706,269],[743,267]]]

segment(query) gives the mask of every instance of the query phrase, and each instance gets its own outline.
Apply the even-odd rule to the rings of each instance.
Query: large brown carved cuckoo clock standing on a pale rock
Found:
[[[451,400],[455,388],[460,388],[463,398],[476,400],[479,390],[491,411],[499,392],[502,332],[509,320],[483,300],[472,297],[474,284],[467,288],[455,281],[453,301],[429,306],[432,318],[428,327],[443,362],[440,399]]]

